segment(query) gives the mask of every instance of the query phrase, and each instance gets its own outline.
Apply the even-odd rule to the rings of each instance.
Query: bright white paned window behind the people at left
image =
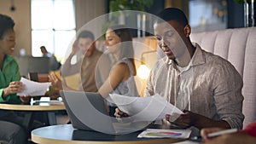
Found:
[[[32,0],[32,56],[42,56],[44,45],[62,60],[75,37],[73,0]]]

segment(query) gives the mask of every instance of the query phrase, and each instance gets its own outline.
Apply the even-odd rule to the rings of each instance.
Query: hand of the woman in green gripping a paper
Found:
[[[3,97],[6,97],[10,94],[20,93],[25,89],[25,85],[19,81],[10,82],[9,86],[3,89]]]

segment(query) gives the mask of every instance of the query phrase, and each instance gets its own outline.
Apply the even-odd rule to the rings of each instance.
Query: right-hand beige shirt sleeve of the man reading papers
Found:
[[[241,130],[244,119],[241,112],[243,101],[241,76],[228,61],[223,61],[215,70],[213,96],[218,117],[230,124],[231,128]]]

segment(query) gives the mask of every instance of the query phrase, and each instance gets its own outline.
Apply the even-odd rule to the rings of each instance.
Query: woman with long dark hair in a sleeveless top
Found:
[[[110,26],[106,32],[105,45],[108,53],[113,55],[114,65],[99,93],[107,101],[109,94],[139,96],[134,79],[136,67],[131,32],[125,26]],[[108,106],[109,115],[114,117],[116,105],[108,101]]]

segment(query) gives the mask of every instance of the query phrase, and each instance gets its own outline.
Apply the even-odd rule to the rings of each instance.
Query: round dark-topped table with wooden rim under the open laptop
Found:
[[[61,124],[32,130],[32,141],[42,144],[148,144],[184,141],[172,138],[137,138],[141,132],[137,131],[127,135],[108,135],[96,131],[75,130],[71,124]]]

